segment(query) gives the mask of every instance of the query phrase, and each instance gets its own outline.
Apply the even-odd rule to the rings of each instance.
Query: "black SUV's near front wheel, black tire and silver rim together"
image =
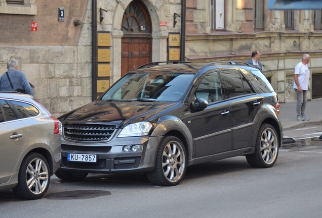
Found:
[[[183,143],[175,136],[165,136],[156,152],[154,170],[146,173],[154,185],[178,185],[186,172],[187,157]]]

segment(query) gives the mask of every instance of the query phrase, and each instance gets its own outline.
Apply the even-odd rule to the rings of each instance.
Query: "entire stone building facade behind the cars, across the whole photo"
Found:
[[[181,0],[25,0],[23,4],[0,0],[0,72],[6,72],[10,58],[17,59],[20,69],[35,86],[34,98],[56,117],[91,102],[94,96],[93,80],[97,79],[92,71],[94,1],[97,32],[110,36],[110,43],[103,47],[110,55],[108,75],[104,77],[109,85],[121,77],[124,57],[136,57],[135,52],[126,52],[129,45],[126,40],[140,47],[144,36],[150,43],[145,60],[167,61],[169,34],[181,32],[181,17],[177,16],[174,25],[174,14],[182,16]],[[248,61],[252,50],[257,49],[262,54],[263,73],[278,93],[279,101],[295,101],[294,66],[303,53],[311,56],[312,93],[313,89],[321,89],[320,84],[316,88],[311,82],[315,82],[313,77],[316,81],[322,78],[322,28],[316,25],[321,15],[318,11],[294,11],[290,27],[286,23],[290,14],[269,10],[267,2],[186,0],[185,59]],[[125,12],[131,12],[135,5],[146,15],[144,22],[148,23],[148,27],[139,25],[139,33],[124,27],[128,16]],[[59,8],[64,9],[64,21],[58,20]],[[140,15],[135,19],[140,19]],[[36,31],[32,23],[36,23]],[[126,31],[129,29],[133,35]],[[142,53],[138,52],[138,56]],[[138,67],[132,62],[128,65]],[[318,91],[312,93],[310,99],[322,97]]]

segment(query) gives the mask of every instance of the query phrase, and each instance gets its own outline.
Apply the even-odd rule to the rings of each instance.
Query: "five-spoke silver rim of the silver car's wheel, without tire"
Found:
[[[41,194],[48,186],[49,172],[42,159],[34,158],[26,169],[26,183],[33,194]]]

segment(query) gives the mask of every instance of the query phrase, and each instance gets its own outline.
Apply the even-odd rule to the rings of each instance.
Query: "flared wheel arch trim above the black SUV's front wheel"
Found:
[[[153,136],[165,136],[169,132],[179,132],[181,136],[174,136],[180,138],[184,138],[185,141],[182,141],[182,143],[185,144],[187,152],[188,152],[188,159],[192,158],[192,145],[193,145],[193,140],[192,140],[192,135],[188,129],[188,127],[180,120],[179,118],[175,116],[163,116],[160,117],[157,122],[156,122],[156,127],[153,130],[151,137]]]

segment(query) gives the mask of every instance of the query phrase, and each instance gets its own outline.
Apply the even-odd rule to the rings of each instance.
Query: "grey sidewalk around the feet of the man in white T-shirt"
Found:
[[[296,102],[280,103],[279,118],[283,124],[283,130],[314,126],[322,124],[322,98],[309,100],[306,104],[305,115],[309,121],[296,120]]]

